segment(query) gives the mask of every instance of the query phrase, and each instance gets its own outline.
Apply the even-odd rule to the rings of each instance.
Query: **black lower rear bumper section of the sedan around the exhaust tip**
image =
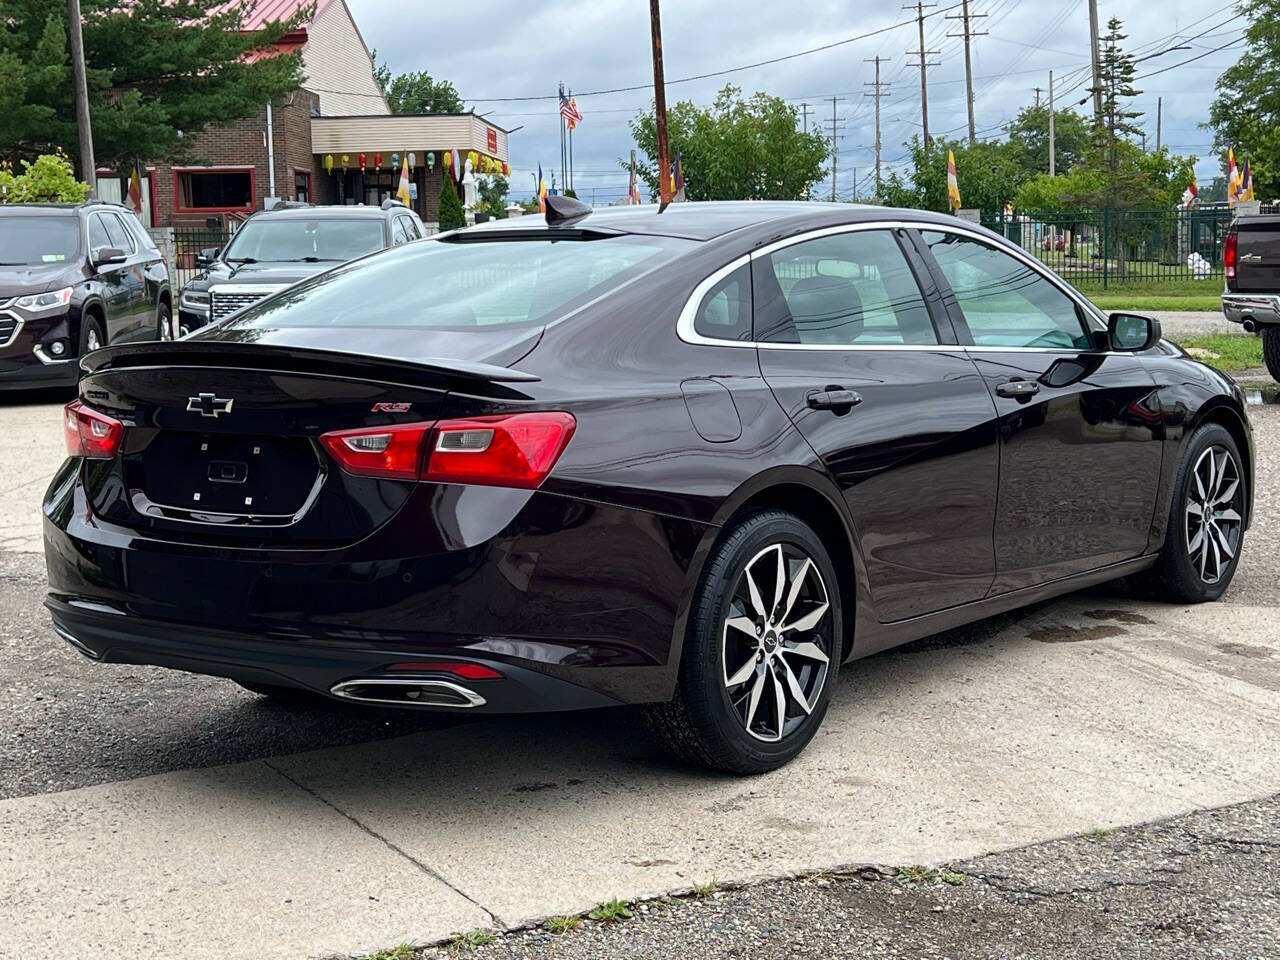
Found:
[[[79,653],[100,663],[133,663],[169,667],[191,673],[242,680],[251,684],[293,686],[355,703],[375,703],[413,709],[465,709],[475,713],[534,713],[614,707],[618,700],[527,667],[492,658],[467,657],[502,675],[500,680],[466,680],[448,672],[388,671],[394,663],[421,660],[421,649],[344,646],[285,641],[232,631],[209,630],[191,623],[165,623],[133,617],[109,604],[50,596],[45,605],[54,630]],[[451,652],[457,653],[457,652]],[[424,689],[453,687],[456,703],[392,703],[389,699],[358,700],[349,695],[353,681],[394,680]],[[338,692],[334,692],[334,690]],[[372,686],[369,687],[374,690]]]

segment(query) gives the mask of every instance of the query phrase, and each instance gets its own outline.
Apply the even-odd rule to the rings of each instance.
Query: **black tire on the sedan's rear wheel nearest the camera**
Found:
[[[785,593],[777,586],[778,561],[773,550],[783,557]],[[812,561],[813,567],[800,558]],[[748,567],[755,571],[756,562],[765,563],[755,573],[762,580],[756,593],[768,608],[764,618],[750,608],[750,588],[744,580]],[[797,580],[800,586],[794,591]],[[778,595],[782,603],[771,607]],[[823,595],[828,603],[824,612]],[[780,614],[792,596],[791,616]],[[649,728],[664,749],[692,764],[730,773],[777,769],[804,750],[827,713],[844,646],[842,614],[836,570],[822,540],[804,522],[782,511],[768,511],[735,524],[703,567],[689,611],[676,696],[645,709]],[[773,628],[758,628],[753,635],[730,626],[731,616],[756,627],[762,621],[782,627],[813,616],[820,618],[812,630],[796,627],[787,634],[778,630],[774,639]],[[826,654],[824,664],[812,658],[810,646]],[[733,663],[726,663],[730,657]],[[753,673],[735,685],[731,669],[733,676],[748,669]],[[788,677],[796,680],[803,700],[796,699]],[[753,712],[751,692],[758,686]],[[783,691],[781,724],[778,690]],[[808,714],[801,703],[809,707]],[[748,721],[753,714],[756,719],[750,732]],[[778,737],[768,739],[773,733]]]

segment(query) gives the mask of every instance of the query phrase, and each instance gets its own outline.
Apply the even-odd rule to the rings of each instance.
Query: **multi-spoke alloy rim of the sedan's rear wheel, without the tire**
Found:
[[[831,596],[813,559],[776,543],[744,567],[730,595],[722,680],[739,722],[777,742],[804,723],[827,682]]]

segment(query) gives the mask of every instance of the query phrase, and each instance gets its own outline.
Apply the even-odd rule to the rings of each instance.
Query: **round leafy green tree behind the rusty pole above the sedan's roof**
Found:
[[[658,134],[653,111],[631,120],[644,155],[640,179],[658,195]],[[681,150],[689,200],[801,200],[826,175],[827,140],[799,129],[796,109],[781,97],[726,86],[707,109],[681,100],[667,110],[672,156]],[[618,160],[630,169],[630,160]]]

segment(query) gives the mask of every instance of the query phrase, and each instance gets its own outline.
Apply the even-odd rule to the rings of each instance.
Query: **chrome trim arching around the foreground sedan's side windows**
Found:
[[[1088,300],[1076,293],[1071,287],[1066,285],[1059,276],[1050,271],[1039,260],[1030,256],[1021,247],[1006,247],[1000,243],[992,243],[992,238],[980,230],[975,230],[972,227],[965,227],[964,224],[950,224],[950,223],[933,223],[931,220],[867,220],[863,223],[846,223],[836,224],[835,227],[819,227],[805,233],[797,233],[794,237],[786,237],[785,239],[774,241],[767,243],[759,250],[753,250],[750,253],[745,253],[732,262],[726,264],[719,268],[709,276],[704,278],[696,287],[694,292],[689,296],[685,302],[684,308],[680,311],[680,317],[676,320],[676,334],[685,343],[692,343],[705,347],[754,347],[756,349],[810,349],[810,351],[849,351],[849,352],[865,352],[865,351],[932,351],[934,353],[961,353],[961,352],[983,352],[983,353],[1064,353],[1079,356],[1080,353],[1097,353],[1096,349],[1080,349],[1078,347],[983,347],[980,344],[952,344],[952,343],[765,343],[762,340],[722,340],[714,337],[704,337],[694,330],[694,320],[698,316],[698,308],[701,306],[703,298],[707,293],[724,276],[737,270],[744,264],[749,264],[758,257],[768,256],[778,250],[785,250],[787,247],[795,246],[796,243],[805,243],[806,241],[819,239],[822,237],[833,237],[841,233],[856,233],[859,230],[937,230],[940,233],[955,233],[961,237],[969,237],[972,239],[987,243],[992,248],[1007,253],[1015,260],[1021,261],[1032,270],[1034,270],[1041,278],[1047,280],[1053,285],[1060,293],[1068,297],[1073,303],[1075,303],[1083,312],[1087,321],[1093,321],[1097,324],[1096,330],[1102,330],[1101,320],[1098,317],[1097,307],[1089,303]],[[923,296],[923,292],[922,292]],[[754,312],[754,305],[753,305]],[[1132,351],[1103,351],[1107,353],[1132,353]]]

